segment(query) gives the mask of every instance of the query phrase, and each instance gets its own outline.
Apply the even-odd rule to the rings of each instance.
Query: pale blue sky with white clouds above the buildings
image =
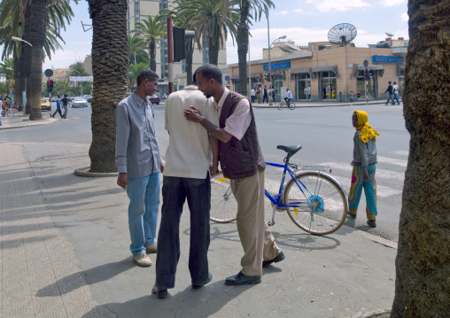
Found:
[[[407,0],[273,0],[275,9],[269,11],[270,43],[286,35],[283,41],[291,40],[297,45],[309,42],[328,41],[331,27],[339,23],[351,23],[358,34],[353,43],[367,47],[383,41],[385,32],[408,39]],[[83,61],[90,54],[92,30],[84,32],[81,21],[90,25],[88,3],[80,0],[71,2],[74,18],[61,35],[66,44],[51,60],[45,59],[43,69],[67,67]],[[250,58],[262,58],[262,49],[268,47],[268,19],[264,14],[259,22],[253,22],[250,29]],[[227,39],[227,63],[237,63],[237,45],[231,36]]]

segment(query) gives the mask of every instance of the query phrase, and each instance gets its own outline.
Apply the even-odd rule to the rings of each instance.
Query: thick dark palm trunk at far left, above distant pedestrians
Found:
[[[43,43],[47,36],[47,1],[33,0],[27,7],[30,16],[26,28],[31,32],[33,48],[31,50],[30,74],[27,81],[30,82],[27,89],[27,101],[30,102],[30,120],[42,120],[41,92],[43,81]],[[22,45],[27,45],[22,43]]]

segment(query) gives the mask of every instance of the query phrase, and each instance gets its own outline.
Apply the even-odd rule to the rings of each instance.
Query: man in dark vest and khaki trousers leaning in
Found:
[[[217,66],[198,67],[198,89],[213,97],[219,112],[219,127],[206,120],[195,106],[184,111],[188,120],[200,123],[219,140],[219,160],[223,175],[230,179],[237,199],[237,232],[244,248],[242,269],[227,278],[228,285],[261,282],[262,268],[284,259],[264,220],[264,169],[266,167],[249,100],[222,83]],[[214,167],[217,167],[213,163]]]

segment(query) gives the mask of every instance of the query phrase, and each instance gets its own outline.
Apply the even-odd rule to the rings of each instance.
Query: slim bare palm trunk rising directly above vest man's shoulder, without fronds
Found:
[[[237,27],[237,58],[239,65],[239,89],[241,94],[244,96],[247,96],[247,82],[248,82],[247,78],[248,6],[249,0],[243,0],[241,2],[241,16],[239,26]]]

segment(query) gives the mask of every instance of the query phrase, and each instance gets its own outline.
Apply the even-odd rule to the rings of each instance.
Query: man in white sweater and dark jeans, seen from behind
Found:
[[[209,212],[211,209],[210,172],[215,173],[219,146],[207,130],[184,118],[184,110],[195,105],[208,120],[218,125],[213,98],[206,98],[196,85],[189,85],[167,97],[166,130],[169,145],[166,151],[161,208],[161,222],[156,259],[156,282],[152,293],[158,298],[167,296],[167,289],[175,287],[176,265],[180,258],[179,225],[182,206],[187,198],[190,208],[189,269],[192,288],[201,288],[213,276],[208,271]],[[212,158],[213,155],[213,158]]]

